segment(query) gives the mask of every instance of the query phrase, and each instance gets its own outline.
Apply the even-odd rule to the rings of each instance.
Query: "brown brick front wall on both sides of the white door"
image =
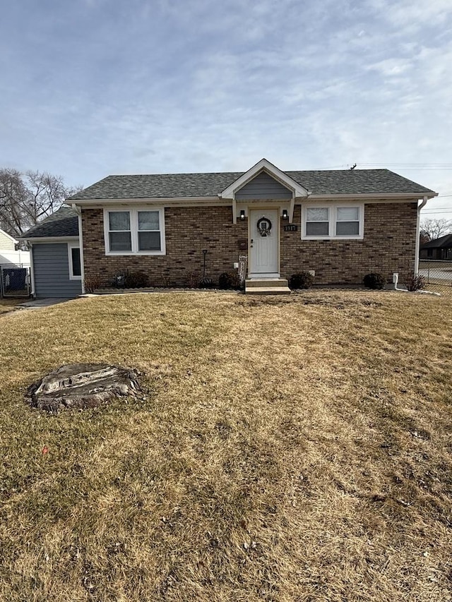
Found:
[[[364,206],[364,240],[302,241],[300,211],[295,207],[297,232],[285,232],[281,220],[281,275],[316,270],[316,284],[361,284],[368,272],[400,279],[414,268],[417,203]],[[100,277],[101,286],[114,276],[145,271],[155,286],[184,286],[187,273],[202,276],[204,248],[206,277],[218,279],[232,272],[239,255],[239,241],[248,238],[248,220],[232,224],[231,207],[165,208],[166,255],[106,256],[102,209],[82,210],[85,278]]]

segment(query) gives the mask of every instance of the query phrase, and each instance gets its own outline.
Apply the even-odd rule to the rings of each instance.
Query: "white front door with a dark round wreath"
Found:
[[[279,275],[279,211],[252,209],[249,211],[249,276],[277,277]]]

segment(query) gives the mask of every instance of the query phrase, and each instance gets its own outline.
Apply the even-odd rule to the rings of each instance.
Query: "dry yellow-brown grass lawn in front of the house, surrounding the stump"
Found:
[[[364,291],[2,316],[1,601],[450,601],[451,325]],[[143,395],[25,405],[79,361]]]

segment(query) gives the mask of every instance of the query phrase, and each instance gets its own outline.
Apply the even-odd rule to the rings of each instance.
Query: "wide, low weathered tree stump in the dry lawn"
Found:
[[[64,408],[93,408],[114,397],[135,396],[141,387],[138,373],[107,363],[61,366],[28,387],[31,407],[49,412]]]

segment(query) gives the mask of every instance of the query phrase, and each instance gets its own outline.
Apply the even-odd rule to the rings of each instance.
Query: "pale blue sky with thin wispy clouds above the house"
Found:
[[[452,218],[451,0],[15,0],[0,167],[388,167]],[[448,212],[446,212],[448,211]]]

